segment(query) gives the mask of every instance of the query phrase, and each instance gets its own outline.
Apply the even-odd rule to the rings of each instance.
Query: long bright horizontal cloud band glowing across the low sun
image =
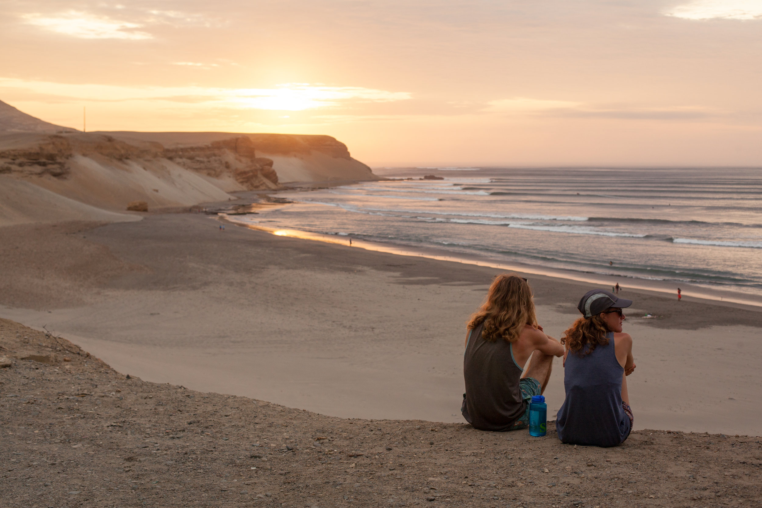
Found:
[[[309,83],[289,83],[278,85],[277,88],[123,87],[0,78],[0,88],[23,91],[25,94],[39,94],[42,97],[56,97],[56,101],[165,101],[199,104],[204,107],[281,111],[341,107],[363,102],[405,101],[411,98],[408,92]]]

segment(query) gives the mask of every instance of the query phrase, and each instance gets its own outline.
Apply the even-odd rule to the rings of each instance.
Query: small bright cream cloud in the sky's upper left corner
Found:
[[[56,34],[69,35],[80,39],[152,39],[151,34],[136,31],[140,24],[120,21],[106,16],[97,16],[82,11],[68,11],[61,14],[23,14],[27,24],[50,30]]]

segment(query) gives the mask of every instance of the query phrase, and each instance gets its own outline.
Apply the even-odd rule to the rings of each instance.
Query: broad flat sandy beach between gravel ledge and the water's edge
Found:
[[[218,226],[165,214],[0,228],[14,267],[0,275],[0,316],[146,381],[335,417],[463,422],[464,323],[494,269]],[[559,337],[588,286],[530,283],[540,324]],[[635,428],[759,436],[760,309],[623,296],[635,301]],[[551,419],[562,375],[558,363]]]

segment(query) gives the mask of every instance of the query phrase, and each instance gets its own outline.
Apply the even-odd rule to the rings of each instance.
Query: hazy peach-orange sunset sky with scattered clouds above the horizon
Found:
[[[371,166],[762,166],[762,0],[0,0],[0,100]]]

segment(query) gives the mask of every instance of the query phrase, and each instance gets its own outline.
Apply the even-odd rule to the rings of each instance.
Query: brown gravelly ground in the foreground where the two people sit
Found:
[[[345,420],[128,378],[8,320],[0,356],[0,506],[762,506],[757,437]]]

